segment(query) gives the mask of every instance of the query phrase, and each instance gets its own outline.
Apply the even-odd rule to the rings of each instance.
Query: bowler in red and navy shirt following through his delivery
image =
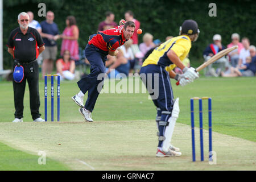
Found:
[[[85,121],[93,121],[91,113],[103,86],[100,83],[104,81],[106,56],[116,56],[117,48],[133,36],[134,29],[134,22],[121,20],[119,26],[89,36],[85,56],[90,62],[90,74],[77,82],[81,91],[72,97],[72,100],[81,107],[79,112],[84,116]],[[84,105],[86,92],[88,92],[88,98]]]

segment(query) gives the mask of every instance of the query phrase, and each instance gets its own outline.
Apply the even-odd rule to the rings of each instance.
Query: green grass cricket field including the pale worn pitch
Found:
[[[138,78],[135,80],[139,81]],[[105,86],[106,84],[109,82],[106,81]],[[118,81],[115,84],[118,85]],[[78,111],[79,107],[71,100],[79,91],[76,81],[63,81],[60,96],[61,122],[33,123],[27,87],[23,123],[12,123],[13,85],[2,81],[0,170],[255,170],[256,78],[202,77],[185,87],[176,86],[174,80],[172,85],[175,97],[180,98],[180,115],[172,143],[181,149],[183,155],[179,158],[159,159],[155,158],[158,143],[154,121],[156,110],[152,101],[148,100],[147,93],[100,94],[92,114],[94,122],[88,123],[84,122]],[[42,118],[43,86],[44,82],[40,80]],[[207,162],[206,101],[203,104],[206,160],[196,163],[191,161],[189,98],[204,96],[212,97],[216,165]],[[195,110],[196,127],[199,127],[197,102]],[[199,161],[199,131],[196,130],[196,134],[196,154]],[[46,152],[46,165],[38,164],[38,151]]]

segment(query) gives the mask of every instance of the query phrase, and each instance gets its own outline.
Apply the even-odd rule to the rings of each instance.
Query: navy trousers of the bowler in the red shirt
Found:
[[[88,92],[88,98],[84,107],[90,112],[93,111],[98,94],[100,94],[103,87],[107,55],[108,52],[101,51],[99,48],[93,46],[93,44],[87,44],[85,47],[85,56],[90,62],[90,74],[81,78],[77,82],[77,85],[82,93],[85,94]]]

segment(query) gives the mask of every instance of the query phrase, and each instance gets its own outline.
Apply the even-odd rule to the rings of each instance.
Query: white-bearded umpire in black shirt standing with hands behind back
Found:
[[[44,51],[44,42],[35,28],[28,27],[29,19],[27,13],[22,12],[18,15],[19,27],[11,32],[7,43],[8,52],[14,57],[13,69],[16,66],[24,69],[24,77],[19,82],[13,80],[15,105],[15,119],[13,122],[23,121],[23,98],[26,80],[30,90],[32,118],[34,121],[44,122],[39,113],[39,71],[38,61],[36,61],[38,55]]]

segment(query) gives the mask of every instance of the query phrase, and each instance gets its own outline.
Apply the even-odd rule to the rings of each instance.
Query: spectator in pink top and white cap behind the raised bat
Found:
[[[239,54],[241,49],[243,48],[243,44],[239,42],[240,36],[237,33],[232,34],[231,39],[232,39],[232,43],[228,44],[228,48],[233,46],[238,46],[238,49],[235,49],[234,51],[229,53],[230,62],[232,67],[237,67]]]

